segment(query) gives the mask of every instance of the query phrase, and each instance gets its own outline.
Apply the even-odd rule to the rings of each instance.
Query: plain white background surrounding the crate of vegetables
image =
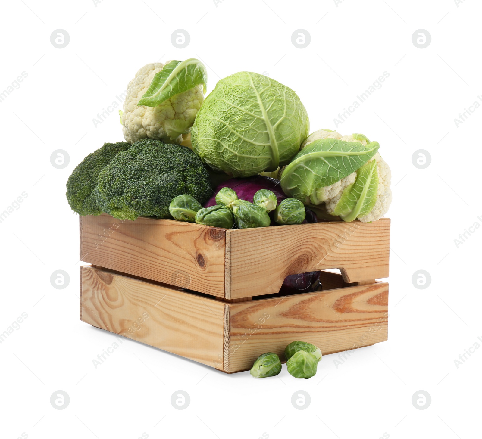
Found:
[[[0,223],[0,332],[23,312],[0,345],[2,438],[473,438],[480,437],[482,349],[454,360],[482,337],[478,282],[482,229],[482,108],[454,119],[482,94],[480,17],[476,0],[322,1],[92,0],[3,2],[0,92],[28,76],[0,102],[0,211],[27,198]],[[30,9],[31,8],[31,9]],[[67,47],[50,42],[55,29]],[[176,29],[190,34],[175,48]],[[306,29],[311,42],[291,41]],[[417,29],[430,45],[415,47]],[[296,380],[228,375],[125,341],[96,369],[93,359],[114,335],[79,320],[79,217],[65,199],[69,174],[104,142],[122,140],[117,112],[93,119],[148,62],[200,58],[217,80],[240,70],[264,73],[293,88],[311,131],[334,118],[383,72],[389,77],[337,127],[380,143],[392,170],[388,342],[358,350],[342,365],[323,357],[318,373]],[[479,101],[481,102],[481,101]],[[56,169],[50,156],[70,156]],[[417,169],[412,155],[431,155]],[[66,289],[50,276],[67,271]],[[431,284],[416,289],[420,269]],[[482,342],[479,340],[479,344]],[[50,396],[64,390],[65,410]],[[186,410],[170,402],[182,389]],[[310,406],[295,410],[297,390]],[[427,391],[426,410],[412,395]]]

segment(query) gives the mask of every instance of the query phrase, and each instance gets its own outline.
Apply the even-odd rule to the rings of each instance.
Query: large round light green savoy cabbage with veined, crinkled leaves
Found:
[[[220,80],[191,129],[193,150],[234,177],[286,165],[308,136],[308,114],[296,93],[252,72]]]

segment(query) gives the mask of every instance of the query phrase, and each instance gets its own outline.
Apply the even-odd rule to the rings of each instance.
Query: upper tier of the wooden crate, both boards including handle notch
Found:
[[[80,217],[80,260],[228,300],[278,293],[290,274],[388,277],[390,220],[229,230],[174,220]]]

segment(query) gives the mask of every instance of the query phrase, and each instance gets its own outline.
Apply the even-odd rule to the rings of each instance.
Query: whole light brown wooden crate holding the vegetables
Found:
[[[227,230],[81,217],[80,319],[224,372],[303,340],[329,354],[387,340],[390,220]],[[322,271],[322,290],[279,294]],[[269,294],[269,296],[265,296]]]

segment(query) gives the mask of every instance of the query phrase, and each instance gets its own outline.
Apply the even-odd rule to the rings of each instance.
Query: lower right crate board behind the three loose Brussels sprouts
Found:
[[[284,359],[284,348],[295,340],[312,343],[326,355],[388,337],[386,282],[226,306],[230,328],[226,372],[250,369],[264,352]]]

